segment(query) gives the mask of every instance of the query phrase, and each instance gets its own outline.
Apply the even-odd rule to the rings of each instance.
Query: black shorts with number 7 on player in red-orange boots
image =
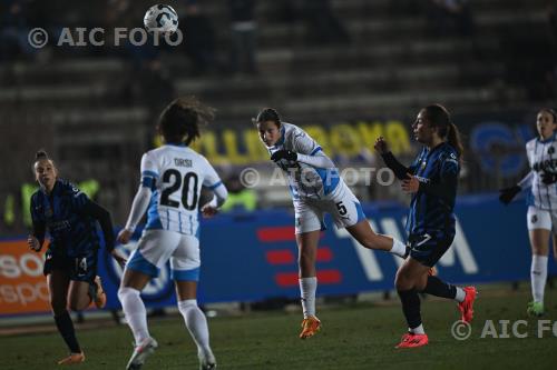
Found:
[[[410,257],[427,267],[433,267],[452,244],[455,236],[432,237],[429,233],[411,234],[407,246]]]

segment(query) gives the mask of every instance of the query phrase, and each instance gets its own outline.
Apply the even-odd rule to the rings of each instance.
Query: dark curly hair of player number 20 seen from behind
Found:
[[[194,97],[178,98],[160,113],[158,131],[168,143],[189,146],[202,134],[201,127],[215,118],[215,110]]]

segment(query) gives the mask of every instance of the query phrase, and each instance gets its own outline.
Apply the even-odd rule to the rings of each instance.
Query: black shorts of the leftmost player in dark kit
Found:
[[[47,276],[52,270],[63,270],[69,273],[70,280],[92,283],[97,277],[97,254],[95,249],[78,257],[67,257],[52,253],[49,249],[42,273]]]

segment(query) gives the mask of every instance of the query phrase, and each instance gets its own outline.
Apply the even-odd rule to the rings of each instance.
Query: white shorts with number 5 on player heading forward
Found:
[[[346,228],[365,219],[362,206],[349,187],[341,181],[323,199],[296,199],[294,200],[296,233],[325,230],[324,216],[331,214],[334,224]]]

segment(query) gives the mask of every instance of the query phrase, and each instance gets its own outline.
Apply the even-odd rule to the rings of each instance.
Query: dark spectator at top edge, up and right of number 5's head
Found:
[[[304,0],[303,18],[310,43],[350,43],[350,36],[333,13],[330,0]]]

